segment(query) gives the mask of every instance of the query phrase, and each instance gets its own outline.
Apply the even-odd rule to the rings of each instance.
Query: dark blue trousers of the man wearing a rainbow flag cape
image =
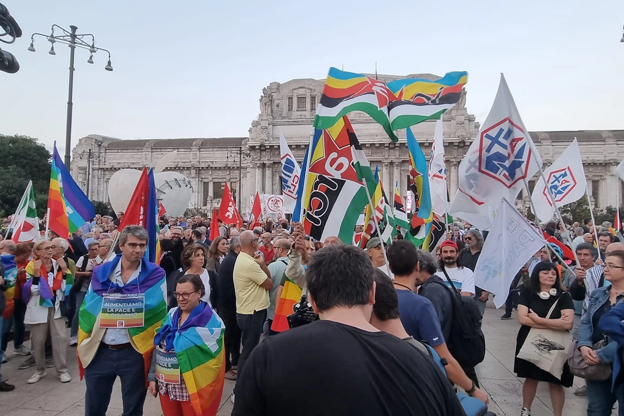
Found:
[[[113,384],[119,376],[123,416],[142,416],[147,389],[143,355],[134,348],[110,350],[100,346],[95,357],[84,370],[87,385],[85,416],[105,416],[109,407]]]

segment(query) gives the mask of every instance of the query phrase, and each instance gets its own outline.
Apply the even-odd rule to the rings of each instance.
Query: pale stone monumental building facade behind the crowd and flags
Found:
[[[380,75],[382,81],[404,76]],[[407,77],[438,79],[432,74],[410,74]],[[94,201],[107,201],[108,179],[118,169],[156,164],[160,158],[177,151],[167,170],[187,176],[193,184],[191,206],[212,209],[218,207],[223,182],[237,194],[241,177],[241,207],[243,213],[251,205],[253,195],[281,193],[280,132],[285,136],[298,162],[310,141],[314,111],[321,97],[324,80],[293,79],[271,82],[262,90],[260,114],[251,122],[248,137],[198,139],[120,140],[113,137],[89,135],[82,137],[73,150],[72,175]],[[362,112],[349,114],[349,119],[361,142],[371,166],[378,165],[387,193],[398,184],[402,196],[407,195],[409,157],[405,132],[399,141],[391,142],[382,129]],[[442,117],[449,191],[457,190],[457,169],[470,144],[479,132],[479,122],[466,108],[466,92],[461,101]],[[423,122],[412,132],[429,157],[435,122]],[[531,132],[544,167],[547,167],[577,137],[583,156],[588,194],[597,207],[622,205],[622,181],[613,175],[613,168],[624,158],[624,131],[553,131]],[[623,147],[622,151],[618,151]],[[242,160],[240,160],[242,157]],[[241,166],[241,169],[239,169]],[[530,187],[535,181],[530,181]],[[527,192],[517,204],[529,206]]]

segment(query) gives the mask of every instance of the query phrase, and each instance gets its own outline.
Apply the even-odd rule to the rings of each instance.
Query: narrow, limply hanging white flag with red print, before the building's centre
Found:
[[[448,207],[442,120],[436,121],[436,132],[433,135],[433,146],[429,159],[429,189],[431,190],[431,209],[436,214],[443,216],[448,212]]]

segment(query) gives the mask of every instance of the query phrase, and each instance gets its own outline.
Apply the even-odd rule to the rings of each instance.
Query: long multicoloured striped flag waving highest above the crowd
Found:
[[[405,78],[388,82],[364,74],[329,68],[314,127],[327,129],[351,111],[363,111],[381,124],[388,137],[394,130],[439,119],[462,96],[467,72],[449,72],[441,79]]]

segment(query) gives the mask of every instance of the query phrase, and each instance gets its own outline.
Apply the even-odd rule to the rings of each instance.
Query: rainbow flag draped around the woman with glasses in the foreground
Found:
[[[178,328],[180,308],[169,311],[154,337],[154,345],[165,341],[165,350],[175,351],[197,416],[214,416],[219,409],[225,381],[225,325],[210,305],[200,302]]]

